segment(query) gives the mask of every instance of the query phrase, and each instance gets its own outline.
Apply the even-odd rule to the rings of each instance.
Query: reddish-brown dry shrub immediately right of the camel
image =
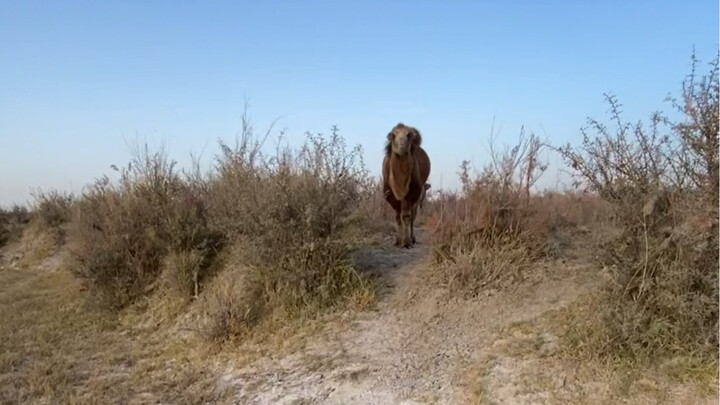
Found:
[[[473,174],[460,166],[462,190],[432,196],[427,226],[436,266],[430,278],[464,296],[542,277],[552,260],[589,254],[610,232],[609,204],[596,194],[535,192],[546,170],[540,153],[547,145],[521,130],[517,144],[495,151]],[[585,243],[569,249],[571,241]]]

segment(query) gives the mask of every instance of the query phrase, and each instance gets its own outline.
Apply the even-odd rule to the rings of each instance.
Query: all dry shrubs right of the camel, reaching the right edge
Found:
[[[608,96],[611,125],[590,119],[580,145],[548,146],[579,192],[530,192],[544,170],[533,135],[478,175],[463,163],[462,191],[433,199],[431,278],[465,296],[496,291],[585,241],[584,260],[609,282],[591,311],[563,311],[565,354],[717,382],[718,59],[702,77],[692,63],[680,100],[668,97],[680,118],[630,124]]]

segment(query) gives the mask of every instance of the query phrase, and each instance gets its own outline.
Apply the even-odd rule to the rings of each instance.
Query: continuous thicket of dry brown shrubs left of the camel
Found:
[[[118,182],[104,177],[78,200],[75,273],[116,309],[157,287],[186,300],[202,296],[215,308],[210,336],[252,324],[237,303],[261,305],[257,317],[298,316],[371,296],[372,283],[348,259],[368,233],[358,213],[374,183],[362,151],[346,150],[335,129],[273,155],[261,152],[263,143],[244,119],[242,136],[232,147],[220,142],[207,175],[197,165],[182,175],[164,154],[137,151]],[[224,254],[225,246],[233,249]],[[240,284],[213,284],[203,294],[226,273],[242,274]]]

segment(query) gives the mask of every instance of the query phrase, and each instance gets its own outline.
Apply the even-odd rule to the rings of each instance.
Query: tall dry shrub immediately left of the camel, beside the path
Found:
[[[249,124],[234,148],[221,144],[210,193],[214,224],[235,243],[230,266],[252,273],[246,280],[260,285],[251,290],[262,291],[267,308],[291,316],[372,290],[348,260],[368,225],[357,215],[372,186],[361,150],[348,152],[335,129],[271,157],[261,145]]]

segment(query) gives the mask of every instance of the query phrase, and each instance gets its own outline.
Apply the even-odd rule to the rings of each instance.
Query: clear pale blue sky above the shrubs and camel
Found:
[[[576,141],[603,92],[627,118],[668,110],[718,47],[717,0],[2,1],[0,205],[79,192],[129,159],[125,139],[211,163],[275,119],[290,142],[338,125],[379,173],[385,135],[416,126],[434,187],[521,125]],[[553,185],[557,169],[544,179]]]

